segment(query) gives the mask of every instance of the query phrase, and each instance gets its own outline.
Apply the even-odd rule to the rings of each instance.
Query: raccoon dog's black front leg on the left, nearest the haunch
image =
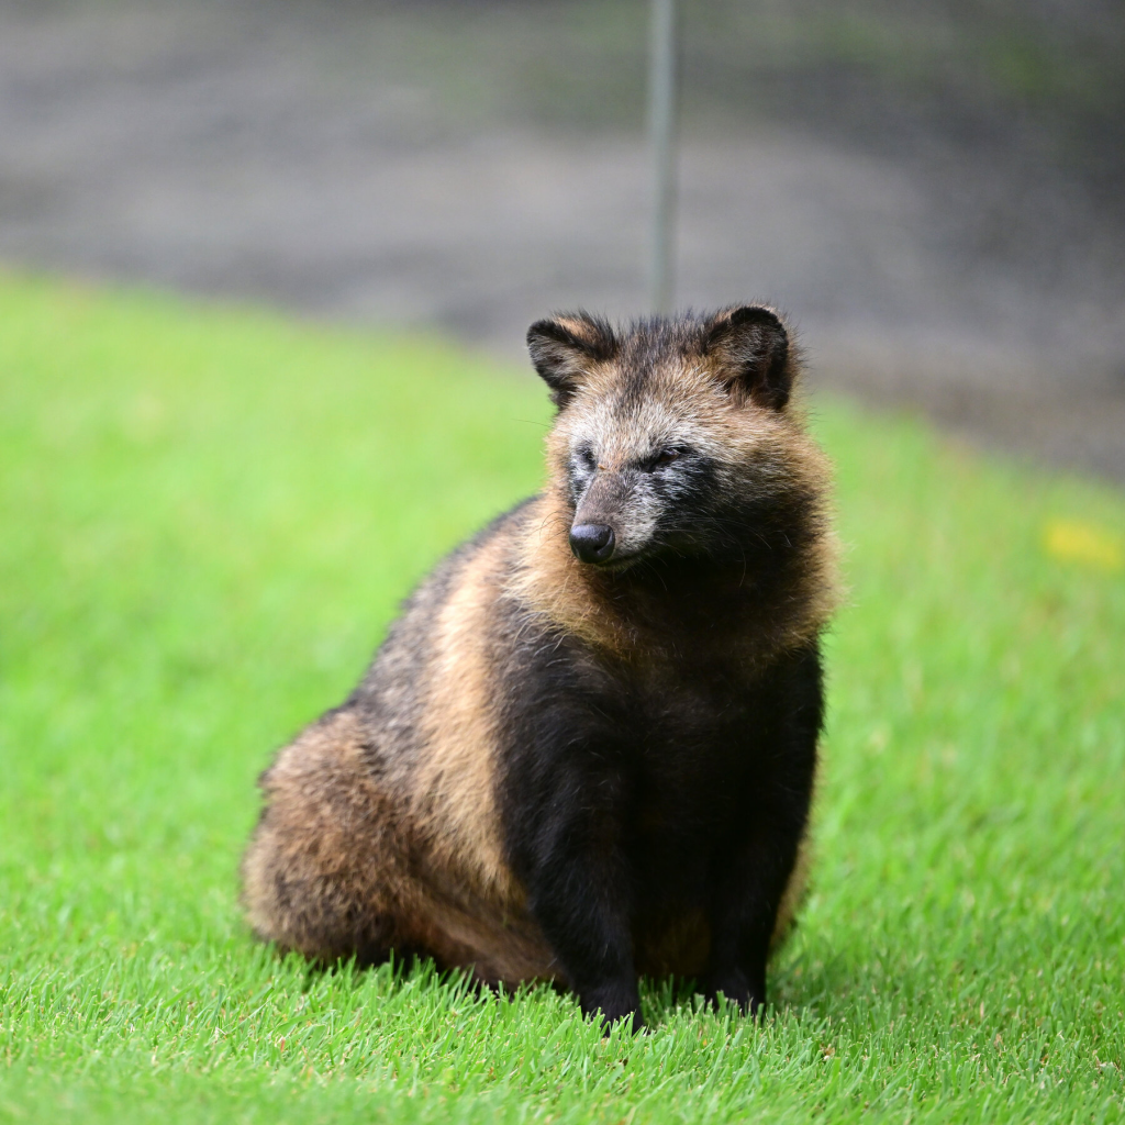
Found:
[[[600,1014],[606,1026],[631,1016],[637,1032],[642,1025],[619,790],[588,763],[559,765],[540,789],[543,799],[528,810],[519,866],[532,914],[583,1014]]]

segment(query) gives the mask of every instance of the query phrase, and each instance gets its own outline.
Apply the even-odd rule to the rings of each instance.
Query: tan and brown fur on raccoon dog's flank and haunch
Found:
[[[263,775],[267,810],[243,865],[261,937],[324,963],[394,948],[471,964],[492,984],[554,976],[492,801],[487,615],[502,547],[467,560],[434,615],[410,770],[380,768],[370,732],[342,711]]]

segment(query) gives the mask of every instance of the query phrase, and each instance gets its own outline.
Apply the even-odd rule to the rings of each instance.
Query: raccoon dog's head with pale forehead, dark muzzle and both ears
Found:
[[[772,309],[636,322],[578,313],[533,324],[528,346],[559,414],[552,483],[583,562],[744,561],[814,503],[818,454],[791,416],[798,369]]]

